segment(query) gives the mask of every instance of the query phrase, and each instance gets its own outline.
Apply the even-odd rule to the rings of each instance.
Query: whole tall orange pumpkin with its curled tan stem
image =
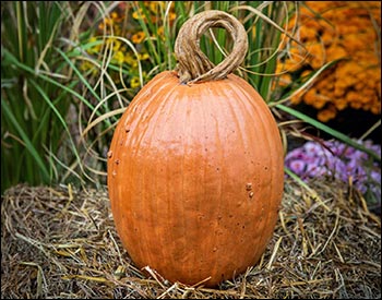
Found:
[[[198,47],[212,26],[235,40],[216,67]],[[212,287],[244,272],[277,221],[279,131],[256,91],[231,74],[247,45],[230,14],[191,17],[176,40],[178,69],[136,94],[112,136],[108,190],[117,232],[139,267],[170,281]]]

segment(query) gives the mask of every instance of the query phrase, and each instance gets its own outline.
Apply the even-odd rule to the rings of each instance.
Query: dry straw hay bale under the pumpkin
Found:
[[[1,202],[2,298],[381,298],[380,217],[351,187],[310,187],[286,182],[261,261],[216,289],[134,267],[106,191],[14,187]]]

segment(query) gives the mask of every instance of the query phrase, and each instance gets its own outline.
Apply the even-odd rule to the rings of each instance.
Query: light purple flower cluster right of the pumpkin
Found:
[[[381,146],[370,140],[362,144],[381,153]],[[365,152],[338,141],[307,142],[286,155],[285,166],[306,182],[320,177],[351,180],[361,193],[371,192],[375,199],[381,199],[381,166]]]

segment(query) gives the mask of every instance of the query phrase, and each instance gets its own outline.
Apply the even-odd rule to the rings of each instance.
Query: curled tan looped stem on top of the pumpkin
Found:
[[[200,48],[201,36],[212,27],[225,28],[234,40],[232,51],[217,65]],[[189,19],[179,31],[175,43],[176,70],[182,83],[222,80],[240,65],[247,50],[247,33],[236,17],[223,11],[204,11]]]

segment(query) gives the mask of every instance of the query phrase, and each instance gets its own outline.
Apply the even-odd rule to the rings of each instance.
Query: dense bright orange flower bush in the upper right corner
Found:
[[[381,113],[381,2],[306,1],[297,23],[294,19],[289,26],[305,48],[291,43],[278,63],[285,85],[341,59],[309,88],[295,94],[293,105],[312,106],[322,122],[346,108]]]

